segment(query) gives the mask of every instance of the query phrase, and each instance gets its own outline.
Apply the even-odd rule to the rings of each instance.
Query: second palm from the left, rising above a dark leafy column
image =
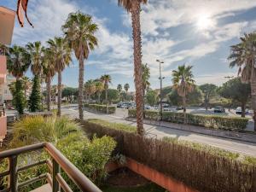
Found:
[[[34,76],[38,76],[38,79],[40,79],[43,83],[43,53],[44,53],[44,47],[42,46],[41,42],[37,41],[34,43],[28,43],[26,44],[26,49],[28,50],[30,57],[31,57],[31,70]],[[42,86],[43,87],[43,86]],[[40,91],[40,84],[39,84],[39,94],[41,95]],[[43,99],[43,96],[35,97]],[[40,106],[40,105],[35,105]],[[43,109],[43,100],[42,100],[42,109]],[[36,108],[35,111],[38,111],[39,108]],[[43,111],[43,110],[42,110]]]

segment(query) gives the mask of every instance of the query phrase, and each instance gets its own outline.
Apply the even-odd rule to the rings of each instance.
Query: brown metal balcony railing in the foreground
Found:
[[[17,158],[20,154],[26,154],[31,151],[37,151],[44,148],[52,160],[41,160],[30,165],[18,167]],[[51,143],[38,143],[22,148],[15,148],[6,150],[0,153],[0,160],[8,158],[9,170],[0,173],[0,178],[9,176],[7,189],[0,190],[0,192],[17,192],[21,187],[28,184],[45,179],[49,183],[53,192],[65,191],[72,192],[66,181],[61,177],[61,171],[66,172],[67,176],[84,192],[102,192],[98,189],[89,178],[85,177],[79,169],[74,166],[61,152],[55,148]],[[38,177],[33,177],[23,183],[18,183],[19,172],[25,171],[33,166],[40,166],[46,164],[49,172],[44,173]]]

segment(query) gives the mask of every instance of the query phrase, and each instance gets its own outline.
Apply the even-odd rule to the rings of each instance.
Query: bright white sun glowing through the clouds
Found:
[[[206,13],[201,13],[197,16],[196,26],[201,31],[210,30],[215,25],[214,20],[212,20],[210,15]]]

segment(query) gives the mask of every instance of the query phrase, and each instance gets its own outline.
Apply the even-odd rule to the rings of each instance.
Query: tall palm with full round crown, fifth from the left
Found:
[[[95,33],[98,26],[93,23],[90,15],[84,15],[79,11],[68,15],[62,30],[79,60],[79,119],[83,115],[83,86],[84,86],[84,59],[87,60],[90,51],[95,49],[97,38]]]

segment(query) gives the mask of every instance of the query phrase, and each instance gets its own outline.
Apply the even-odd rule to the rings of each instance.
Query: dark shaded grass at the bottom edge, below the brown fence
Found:
[[[113,187],[110,185],[104,185],[102,187],[103,192],[166,192],[166,189],[154,183],[148,183],[147,185],[138,187]]]

